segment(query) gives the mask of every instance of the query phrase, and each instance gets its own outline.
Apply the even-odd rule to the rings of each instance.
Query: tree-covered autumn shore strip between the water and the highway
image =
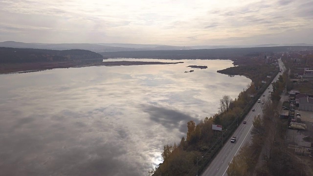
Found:
[[[256,62],[257,61],[257,62]],[[187,123],[188,132],[186,138],[182,137],[178,145],[164,145],[162,152],[163,163],[154,168],[151,175],[185,175],[194,176],[202,171],[214,159],[221,150],[220,142],[224,143],[238,127],[236,124],[245,118],[257,99],[250,98],[250,95],[260,97],[268,87],[278,70],[275,66],[261,64],[262,59],[254,58],[248,60],[242,66],[229,67],[217,72],[227,74],[230,77],[242,75],[252,80],[250,85],[239,93],[235,100],[227,98],[228,103],[220,104],[220,111],[211,117],[206,117],[196,124],[194,121]],[[262,84],[266,81],[266,84]],[[227,106],[224,106],[227,105]],[[236,123],[237,122],[237,123]],[[212,125],[222,125],[224,129],[223,137],[213,132]],[[166,157],[164,157],[166,156]],[[199,159],[200,158],[200,159]],[[177,165],[176,163],[180,163]]]

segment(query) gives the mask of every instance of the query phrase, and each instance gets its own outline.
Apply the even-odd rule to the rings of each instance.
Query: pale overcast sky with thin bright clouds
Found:
[[[312,44],[312,34],[313,0],[0,0],[0,42]]]

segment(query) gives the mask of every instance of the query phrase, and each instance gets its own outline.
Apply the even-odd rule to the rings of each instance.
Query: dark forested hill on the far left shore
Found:
[[[101,59],[101,54],[82,50],[50,50],[0,47],[0,63],[61,62],[71,60]]]

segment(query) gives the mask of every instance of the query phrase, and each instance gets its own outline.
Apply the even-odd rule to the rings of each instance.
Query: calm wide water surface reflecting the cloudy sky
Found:
[[[216,72],[231,61],[127,60],[184,63],[0,75],[0,175],[147,175],[189,120],[251,82]]]

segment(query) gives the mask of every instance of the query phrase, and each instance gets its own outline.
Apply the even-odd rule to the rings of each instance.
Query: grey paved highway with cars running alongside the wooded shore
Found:
[[[279,75],[281,75],[285,70],[281,59],[278,60],[278,64],[279,67],[282,68],[282,72],[277,74],[273,80],[274,82],[278,80]],[[272,85],[269,85],[268,89],[266,89],[263,93],[265,96],[261,96],[261,103],[254,104],[253,108],[255,111],[250,110],[250,112],[246,115],[246,124],[238,124],[237,130],[233,134],[233,136],[237,137],[235,143],[231,143],[230,139],[226,141],[222,150],[219,154],[217,154],[209,167],[203,172],[202,176],[227,176],[226,170],[228,168],[228,163],[231,162],[236,154],[238,154],[240,148],[251,140],[250,131],[253,128],[252,122],[254,116],[262,115],[262,102],[265,102],[269,98],[270,92],[268,91],[272,91]]]

